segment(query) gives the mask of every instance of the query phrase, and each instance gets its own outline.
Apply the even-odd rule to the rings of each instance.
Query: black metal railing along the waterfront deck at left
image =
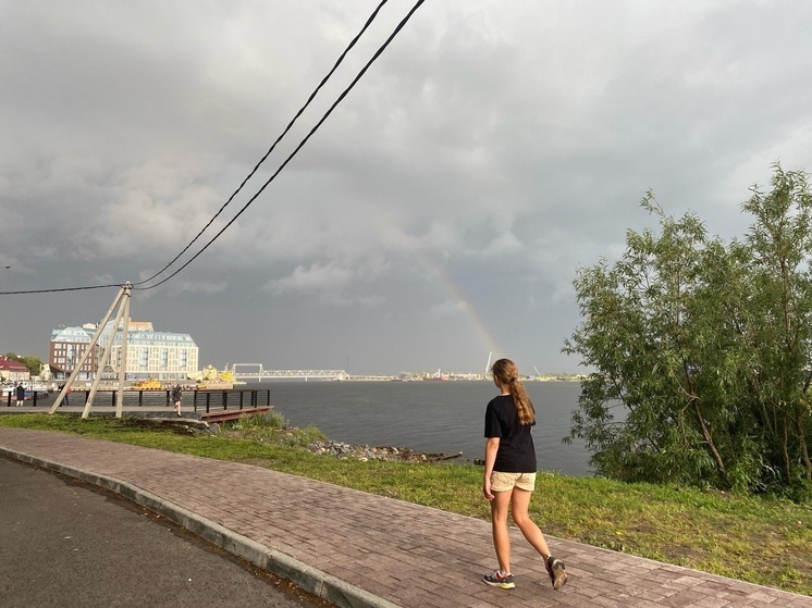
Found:
[[[25,407],[50,409],[57,400],[59,392],[34,393],[24,401]],[[67,395],[67,404],[74,407],[85,407],[90,390],[73,390]],[[116,407],[118,390],[99,389],[94,397],[93,407]],[[16,396],[9,393],[3,399],[5,406],[16,406]],[[122,410],[138,410],[142,408],[173,407],[171,390],[124,390]],[[211,412],[223,410],[242,410],[271,405],[270,389],[230,388],[230,389],[190,389],[184,390],[181,406],[192,407],[196,412]]]

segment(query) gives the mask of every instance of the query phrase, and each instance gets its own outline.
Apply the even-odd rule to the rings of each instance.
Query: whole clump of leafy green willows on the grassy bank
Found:
[[[693,213],[641,206],[657,233],[627,232],[614,264],[581,268],[583,321],[564,351],[595,370],[570,437],[599,474],[760,491],[812,484],[812,197],[775,167],[742,210],[740,240]]]

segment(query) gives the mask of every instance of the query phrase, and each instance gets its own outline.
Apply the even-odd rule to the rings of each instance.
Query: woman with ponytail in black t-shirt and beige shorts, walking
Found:
[[[482,581],[503,590],[516,585],[510,572],[510,538],[507,531],[508,507],[513,521],[525,538],[544,558],[553,588],[567,582],[564,562],[550,553],[544,535],[529,518],[530,496],[536,489],[536,448],[531,435],[536,410],[519,382],[519,371],[509,359],[500,359],[491,368],[500,395],[485,410],[485,470],[482,493],[491,501],[491,528],[499,569]]]

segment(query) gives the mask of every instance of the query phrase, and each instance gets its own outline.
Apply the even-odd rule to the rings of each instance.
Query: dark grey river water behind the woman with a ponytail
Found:
[[[274,410],[294,426],[317,426],[330,439],[368,446],[408,447],[429,454],[484,452],[484,411],[496,394],[491,382],[290,382],[249,383],[269,388]],[[577,382],[528,382],[536,407],[533,442],[539,470],[590,475],[580,439],[563,444],[578,408]]]

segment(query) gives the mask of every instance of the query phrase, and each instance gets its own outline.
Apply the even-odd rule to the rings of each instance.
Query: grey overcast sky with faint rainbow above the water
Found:
[[[413,4],[383,8],[193,253]],[[152,276],[377,5],[0,0],[0,291]],[[774,162],[812,170],[810,32],[807,0],[427,0],[131,317],[218,368],[576,372],[576,270],[656,228],[647,190],[731,238]],[[115,295],[0,296],[0,352],[47,359]]]

